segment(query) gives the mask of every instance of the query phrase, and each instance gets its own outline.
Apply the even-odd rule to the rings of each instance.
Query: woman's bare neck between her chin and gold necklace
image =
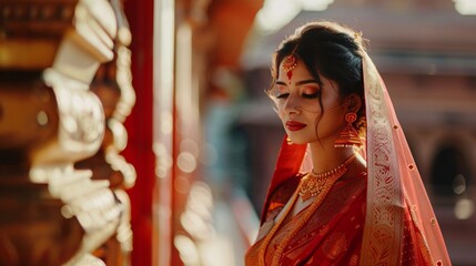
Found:
[[[321,143],[311,143],[310,147],[313,160],[313,172],[317,174],[334,170],[354,154],[352,147],[324,146]]]

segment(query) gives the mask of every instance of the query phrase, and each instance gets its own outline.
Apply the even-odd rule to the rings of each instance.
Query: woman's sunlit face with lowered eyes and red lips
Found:
[[[325,76],[320,84],[301,60],[291,71],[281,63],[270,93],[287,135],[296,144],[335,139],[345,114],[337,85]]]

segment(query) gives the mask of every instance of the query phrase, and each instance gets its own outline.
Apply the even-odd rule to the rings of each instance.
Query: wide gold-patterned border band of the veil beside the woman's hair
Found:
[[[379,75],[367,57],[364,58],[365,103],[367,112],[367,217],[363,244],[366,255],[362,265],[398,265],[402,245],[402,192],[392,139],[388,110]],[[365,66],[367,65],[367,66]]]

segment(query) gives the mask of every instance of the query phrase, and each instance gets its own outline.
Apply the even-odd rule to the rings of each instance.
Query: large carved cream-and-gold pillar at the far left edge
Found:
[[[104,264],[92,254],[119,235],[125,200],[74,163],[103,143],[104,110],[89,86],[114,58],[114,10],[0,0],[0,262]]]

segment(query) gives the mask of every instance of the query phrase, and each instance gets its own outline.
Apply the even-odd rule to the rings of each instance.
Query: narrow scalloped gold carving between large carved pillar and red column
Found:
[[[108,181],[118,202],[123,207],[117,233],[94,254],[107,265],[130,265],[132,250],[131,204],[124,190],[135,183],[135,170],[120,153],[128,143],[128,133],[123,125],[135,103],[132,88],[131,32],[123,13],[122,3],[111,0],[118,19],[118,35],[114,44],[114,59],[102,64],[91,84],[91,91],[98,95],[104,109],[105,132],[100,150],[91,157],[75,164],[78,168],[90,168],[92,178]]]

